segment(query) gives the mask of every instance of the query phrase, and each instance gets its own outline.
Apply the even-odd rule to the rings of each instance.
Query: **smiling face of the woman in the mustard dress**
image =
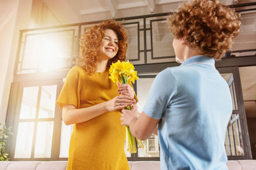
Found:
[[[99,59],[106,60],[115,57],[118,52],[118,37],[115,31],[106,29],[99,46]]]

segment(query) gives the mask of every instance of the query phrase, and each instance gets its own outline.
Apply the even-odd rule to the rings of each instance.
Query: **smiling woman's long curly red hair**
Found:
[[[107,67],[109,67],[112,62],[121,62],[125,60],[125,54],[127,51],[127,31],[124,27],[116,20],[105,20],[99,25],[93,25],[89,27],[87,31],[81,36],[80,48],[82,56],[80,58],[80,64],[83,66],[87,74],[91,75],[95,72],[97,65],[97,53],[99,51],[99,46],[104,37],[104,31],[106,29],[111,29],[116,32],[118,37],[118,52],[113,59],[108,60]]]

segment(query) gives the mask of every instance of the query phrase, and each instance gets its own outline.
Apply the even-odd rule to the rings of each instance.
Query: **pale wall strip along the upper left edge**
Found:
[[[32,1],[0,1],[0,123],[6,119],[19,30],[28,28]]]

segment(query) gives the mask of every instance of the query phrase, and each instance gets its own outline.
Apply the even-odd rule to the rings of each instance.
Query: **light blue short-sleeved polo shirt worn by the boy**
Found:
[[[160,119],[162,170],[227,170],[225,133],[232,114],[230,90],[204,55],[157,74],[143,111]]]

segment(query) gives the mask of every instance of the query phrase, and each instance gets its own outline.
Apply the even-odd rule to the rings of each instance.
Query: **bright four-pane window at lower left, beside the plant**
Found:
[[[16,136],[10,147],[12,160],[52,159],[61,121],[55,104],[58,85],[61,81],[13,83],[10,102],[15,103],[15,113],[10,116]]]

